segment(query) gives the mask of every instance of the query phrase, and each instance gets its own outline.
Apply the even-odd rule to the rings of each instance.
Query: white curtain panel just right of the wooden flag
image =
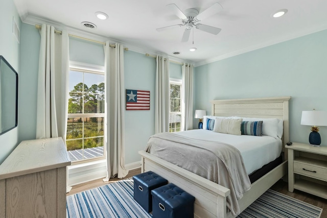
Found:
[[[169,60],[156,57],[155,74],[155,133],[169,132]]]

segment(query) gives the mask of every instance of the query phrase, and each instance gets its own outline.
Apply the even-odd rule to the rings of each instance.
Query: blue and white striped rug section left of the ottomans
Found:
[[[127,179],[67,196],[66,217],[152,217],[133,199]]]

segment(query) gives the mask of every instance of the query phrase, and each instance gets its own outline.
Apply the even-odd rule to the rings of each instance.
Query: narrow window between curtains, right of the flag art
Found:
[[[179,80],[170,81],[170,111],[169,111],[169,132],[181,131],[182,115],[182,82]]]

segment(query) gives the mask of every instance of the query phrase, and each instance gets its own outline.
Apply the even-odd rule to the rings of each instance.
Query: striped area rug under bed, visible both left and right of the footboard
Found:
[[[67,197],[67,217],[152,217],[133,199],[127,179]],[[318,218],[321,208],[271,189],[246,208],[239,218]]]

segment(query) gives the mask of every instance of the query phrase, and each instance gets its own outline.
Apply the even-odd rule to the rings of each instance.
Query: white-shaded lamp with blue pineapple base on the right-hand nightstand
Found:
[[[320,147],[321,137],[318,133],[319,128],[316,126],[327,126],[327,111],[302,111],[301,125],[312,126],[309,135],[311,146]]]

